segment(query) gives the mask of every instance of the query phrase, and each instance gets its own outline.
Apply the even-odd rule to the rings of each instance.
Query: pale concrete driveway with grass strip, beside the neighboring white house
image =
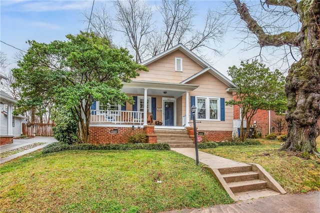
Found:
[[[33,148],[26,149],[24,151],[12,154],[10,156],[4,157],[0,159],[0,164],[7,162],[9,160],[12,160],[16,157],[22,156],[24,154],[30,153],[32,151],[38,150],[40,148],[43,148],[49,143],[56,142],[57,140],[54,137],[45,137],[45,136],[35,136],[33,138],[28,138],[28,139],[13,139],[13,143],[5,144],[0,146],[0,153],[10,151],[16,148],[20,148],[26,145],[31,145],[33,143],[37,142],[45,142],[42,145],[35,146]]]

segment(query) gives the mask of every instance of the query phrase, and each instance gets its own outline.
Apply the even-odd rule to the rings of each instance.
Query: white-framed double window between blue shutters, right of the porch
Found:
[[[198,119],[219,119],[219,98],[196,97],[196,114]]]

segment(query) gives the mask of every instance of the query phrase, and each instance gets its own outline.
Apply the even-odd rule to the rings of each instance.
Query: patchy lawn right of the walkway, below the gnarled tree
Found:
[[[258,163],[288,193],[320,190],[320,164],[310,159],[299,157],[298,153],[279,151],[280,143],[276,140],[259,139],[261,145],[219,146],[202,149],[214,155],[244,163]],[[317,147],[319,147],[317,139]]]

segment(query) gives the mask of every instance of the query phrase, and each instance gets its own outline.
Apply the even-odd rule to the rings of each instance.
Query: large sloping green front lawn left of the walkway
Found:
[[[233,202],[202,166],[173,151],[38,151],[0,172],[0,211],[155,212]]]

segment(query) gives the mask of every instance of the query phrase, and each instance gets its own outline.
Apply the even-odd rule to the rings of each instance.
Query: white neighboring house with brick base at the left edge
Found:
[[[23,116],[13,116],[12,108],[16,100],[0,90],[0,145],[12,143],[14,136],[22,133]]]

